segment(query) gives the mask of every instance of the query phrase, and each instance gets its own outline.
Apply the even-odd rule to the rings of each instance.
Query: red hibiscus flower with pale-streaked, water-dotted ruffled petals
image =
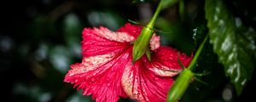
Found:
[[[151,38],[151,62],[146,55],[132,62],[132,41],[142,27],[126,24],[118,31],[108,28],[85,28],[82,63],[71,65],[64,82],[74,83],[97,102],[118,101],[119,97],[138,101],[166,101],[174,71],[181,71],[176,49],[160,47],[160,37]],[[180,54],[183,65],[190,57]]]

